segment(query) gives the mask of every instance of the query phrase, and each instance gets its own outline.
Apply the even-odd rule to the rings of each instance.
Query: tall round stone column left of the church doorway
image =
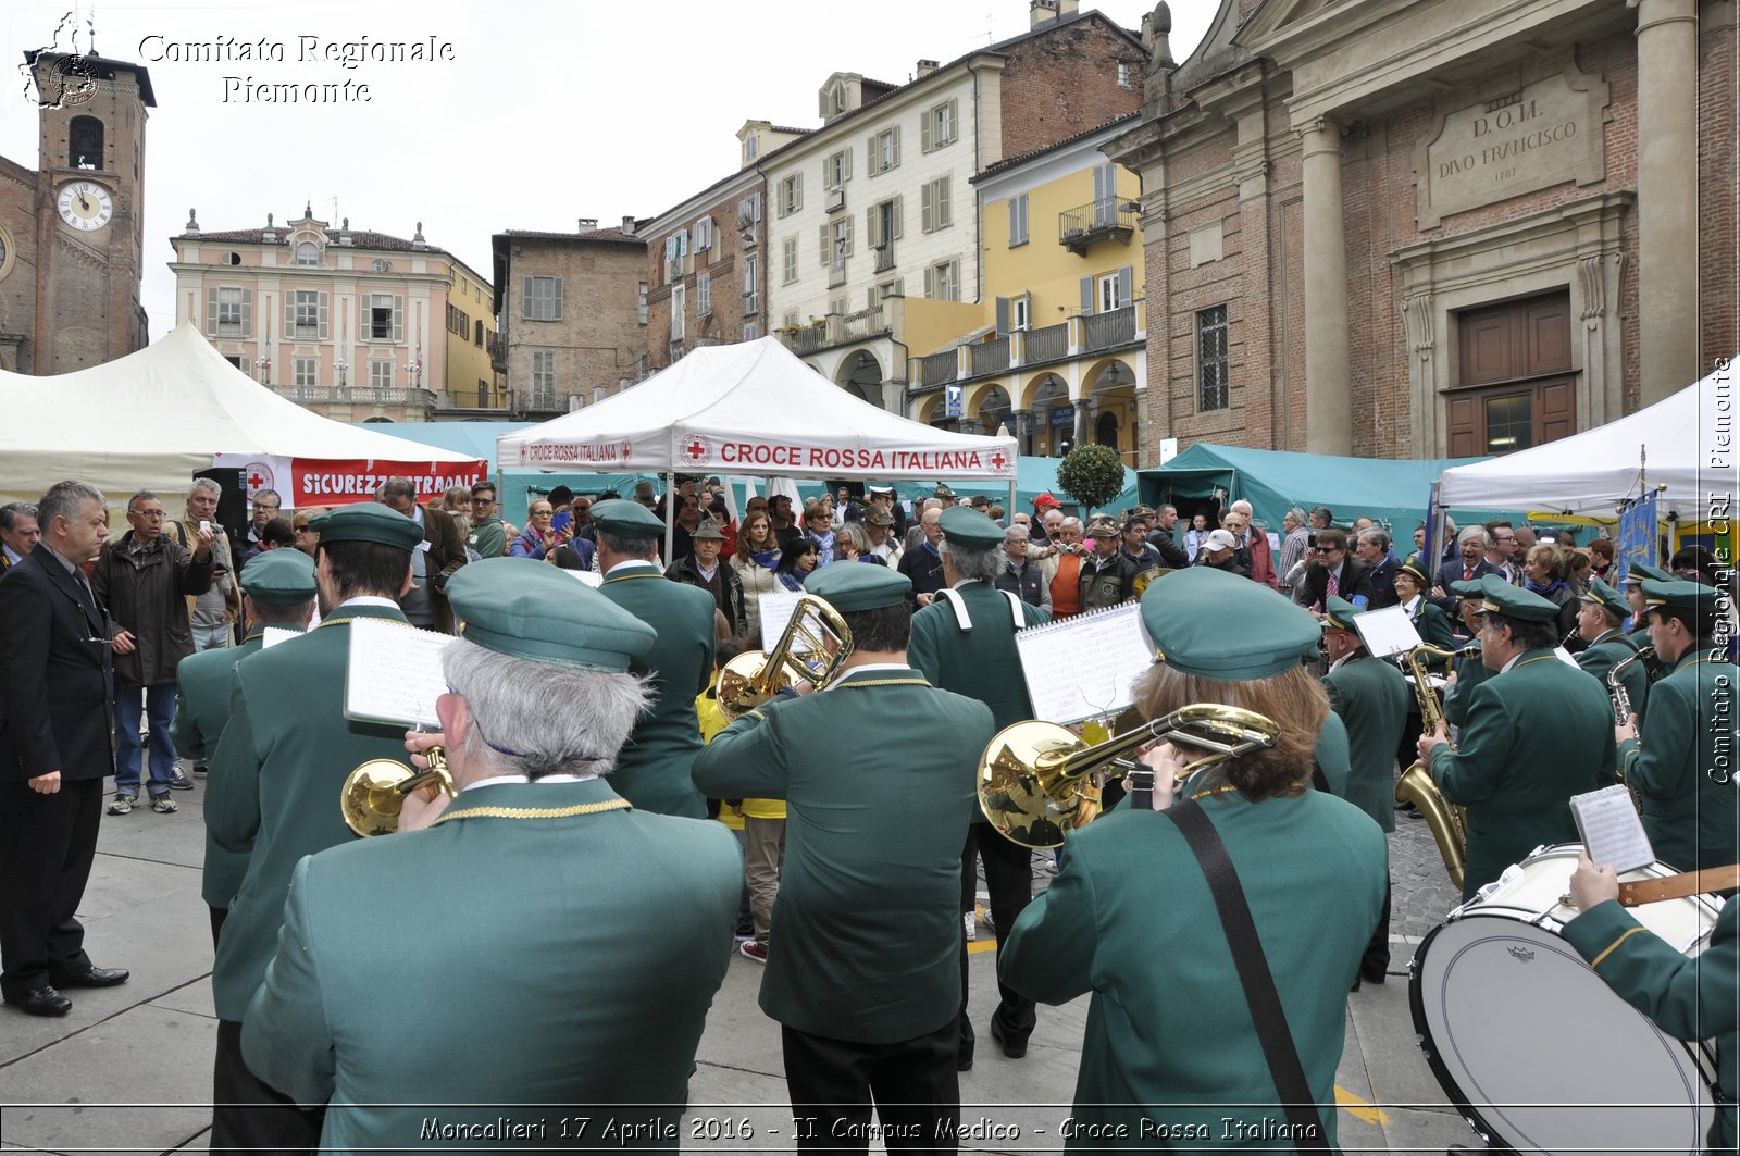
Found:
[[[1342,125],[1317,117],[1298,134],[1305,183],[1305,451],[1350,456]]]

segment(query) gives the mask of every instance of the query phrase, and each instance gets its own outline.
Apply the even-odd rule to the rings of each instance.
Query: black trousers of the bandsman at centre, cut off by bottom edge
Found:
[[[894,1153],[954,1153],[960,1128],[955,1024],[901,1043],[854,1043],[780,1029],[799,1151],[863,1153],[870,1102]]]

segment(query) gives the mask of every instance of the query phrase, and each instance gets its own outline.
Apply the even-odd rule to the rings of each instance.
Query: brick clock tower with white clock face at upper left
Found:
[[[0,200],[9,233],[0,240],[16,247],[0,273],[0,341],[16,348],[0,345],[0,360],[12,353],[7,367],[21,373],[71,373],[146,345],[144,122],[157,99],[146,70],[127,61],[44,49],[24,63],[38,103],[38,167],[31,219]],[[30,284],[9,284],[19,277]],[[26,294],[31,315],[14,308]]]

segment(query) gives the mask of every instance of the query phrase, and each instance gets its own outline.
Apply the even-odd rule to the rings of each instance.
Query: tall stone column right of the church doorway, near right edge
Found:
[[[1637,9],[1637,360],[1648,406],[1702,376],[1698,0]]]

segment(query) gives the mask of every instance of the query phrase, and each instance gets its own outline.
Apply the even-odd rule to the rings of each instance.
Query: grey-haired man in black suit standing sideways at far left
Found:
[[[103,494],[59,482],[37,505],[42,541],[0,576],[0,996],[66,1015],[57,987],[111,987],[75,917],[103,822],[115,677],[108,630],[80,564],[108,538]]]

